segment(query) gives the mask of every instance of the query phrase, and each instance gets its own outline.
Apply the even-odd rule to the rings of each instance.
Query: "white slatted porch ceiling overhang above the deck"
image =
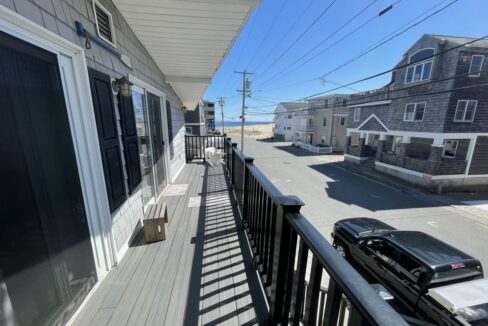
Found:
[[[260,0],[114,0],[193,110]]]

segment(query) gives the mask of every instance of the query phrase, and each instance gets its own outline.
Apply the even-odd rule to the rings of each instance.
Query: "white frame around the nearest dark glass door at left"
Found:
[[[0,31],[57,55],[98,280],[115,265],[88,69],[81,47],[0,5]]]

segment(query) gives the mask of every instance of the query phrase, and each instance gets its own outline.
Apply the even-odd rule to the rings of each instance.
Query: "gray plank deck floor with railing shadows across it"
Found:
[[[223,168],[187,164],[175,183],[189,186],[184,195],[162,197],[167,239],[146,244],[139,234],[73,325],[263,322],[265,303],[249,251],[241,250],[247,242],[236,227]]]

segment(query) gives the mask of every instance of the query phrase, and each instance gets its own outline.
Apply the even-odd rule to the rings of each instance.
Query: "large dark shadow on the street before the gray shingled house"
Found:
[[[393,183],[389,185],[362,178],[345,170],[340,162],[309,167],[331,179],[325,187],[327,196],[347,205],[356,205],[370,211],[445,206],[420,192]]]

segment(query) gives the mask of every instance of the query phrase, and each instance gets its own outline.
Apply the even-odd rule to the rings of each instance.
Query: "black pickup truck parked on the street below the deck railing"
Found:
[[[376,219],[341,220],[332,239],[367,279],[393,294],[402,313],[439,325],[460,323],[429,289],[483,278],[479,260],[428,234],[399,231]]]

